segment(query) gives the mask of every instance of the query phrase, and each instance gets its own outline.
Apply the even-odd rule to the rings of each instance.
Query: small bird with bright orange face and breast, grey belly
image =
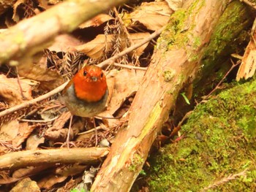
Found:
[[[105,74],[99,66],[86,65],[69,80],[62,92],[64,104],[72,115],[83,118],[93,118],[105,110],[108,99],[108,85]],[[67,147],[72,116],[69,122]],[[97,139],[97,133],[96,139]]]

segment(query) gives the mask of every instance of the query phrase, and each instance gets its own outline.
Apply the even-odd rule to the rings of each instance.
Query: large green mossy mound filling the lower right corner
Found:
[[[223,91],[196,107],[182,126],[184,136],[150,159],[150,191],[201,191],[247,169],[209,191],[256,189],[256,80]]]

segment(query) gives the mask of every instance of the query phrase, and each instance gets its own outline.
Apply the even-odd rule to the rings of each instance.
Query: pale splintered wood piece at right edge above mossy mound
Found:
[[[236,80],[252,77],[256,70],[256,19],[252,26],[252,37],[244,52],[242,63],[238,69]]]

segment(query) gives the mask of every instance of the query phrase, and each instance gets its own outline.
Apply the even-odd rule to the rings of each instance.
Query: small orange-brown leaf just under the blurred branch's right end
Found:
[[[113,18],[107,14],[99,14],[96,17],[92,18],[91,20],[88,20],[85,23],[82,23],[79,26],[79,28],[97,27],[108,20],[113,20]]]

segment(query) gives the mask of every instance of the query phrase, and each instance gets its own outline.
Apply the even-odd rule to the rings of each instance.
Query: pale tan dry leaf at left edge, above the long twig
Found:
[[[26,99],[31,100],[31,85],[28,80],[20,80],[20,86]],[[0,74],[0,96],[10,105],[20,104],[23,102],[18,85],[17,78],[7,78],[4,74]]]

